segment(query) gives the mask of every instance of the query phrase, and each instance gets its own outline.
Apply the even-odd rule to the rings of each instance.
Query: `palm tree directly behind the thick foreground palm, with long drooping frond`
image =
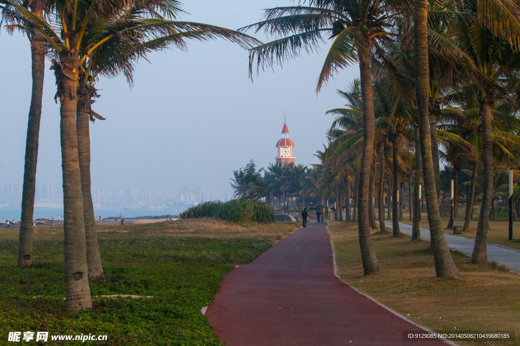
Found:
[[[95,279],[103,275],[101,266],[101,257],[99,253],[99,245],[95,231],[94,206],[92,203],[92,195],[90,193],[90,137],[88,120],[94,122],[95,119],[105,119],[92,110],[92,104],[99,97],[95,89],[96,81],[101,76],[114,77],[122,73],[128,84],[133,85],[133,65],[139,58],[145,57],[146,53],[152,50],[161,50],[168,46],[175,46],[180,50],[186,50],[186,39],[195,39],[199,41],[210,40],[215,38],[224,38],[231,42],[237,42],[242,47],[257,42],[253,38],[228,30],[222,27],[209,24],[189,23],[188,26],[179,26],[173,32],[163,32],[166,35],[160,37],[152,37],[146,40],[144,33],[141,33],[141,39],[134,37],[133,40],[127,40],[124,36],[113,35],[116,28],[127,26],[129,22],[146,20],[163,21],[165,25],[172,25],[173,22],[165,21],[160,11],[166,12],[170,18],[175,19],[175,15],[180,11],[179,8],[168,8],[168,4],[163,1],[146,2],[142,6],[135,6],[127,9],[123,16],[121,13],[115,13],[110,20],[103,21],[104,26],[96,27],[96,31],[89,32],[82,41],[82,47],[87,51],[88,45],[92,40],[103,40],[109,38],[105,43],[98,47],[90,54],[87,59],[82,62],[82,71],[79,85],[77,89],[77,115],[76,127],[78,138],[78,154],[81,168],[82,193],[85,216],[85,234],[86,234],[86,256],[88,265],[89,279]],[[166,11],[165,11],[166,9]],[[146,18],[144,16],[152,13],[155,18]],[[176,24],[178,22],[175,22]],[[192,27],[191,25],[196,24]],[[138,33],[138,32],[137,32]],[[110,37],[112,36],[112,37]]]

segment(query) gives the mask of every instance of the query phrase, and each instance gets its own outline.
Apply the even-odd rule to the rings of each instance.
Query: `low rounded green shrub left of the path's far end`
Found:
[[[266,203],[232,200],[223,202],[204,202],[194,205],[180,214],[181,218],[216,217],[235,223],[267,224],[276,221],[276,215]]]

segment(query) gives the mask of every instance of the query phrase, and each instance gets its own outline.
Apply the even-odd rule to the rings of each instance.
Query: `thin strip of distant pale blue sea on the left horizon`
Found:
[[[159,215],[178,215],[182,213],[184,210],[179,210],[178,208],[171,210],[125,210],[122,208],[94,208],[94,214],[96,216],[101,216],[102,218],[122,215],[125,217],[137,217],[137,216],[159,216]],[[21,207],[0,207],[0,221],[5,222],[6,219],[16,221],[20,220],[20,215],[22,213]],[[54,219],[58,219],[58,215],[60,216],[60,220],[63,219],[63,207],[44,207],[37,206],[34,207],[34,219],[37,218],[48,218],[54,216]]]

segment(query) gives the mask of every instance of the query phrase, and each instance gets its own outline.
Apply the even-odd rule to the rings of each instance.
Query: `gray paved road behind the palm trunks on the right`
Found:
[[[379,224],[379,222],[378,222]],[[385,221],[385,226],[392,229],[392,222]],[[399,223],[399,229],[406,234],[412,234],[412,226]],[[430,230],[420,228],[421,238],[430,241]],[[448,246],[454,250],[458,250],[468,256],[473,252],[474,239],[454,236],[453,234],[444,233]],[[488,243],[488,260],[495,261],[501,265],[510,267],[516,271],[520,271],[520,251],[516,249],[506,248]]]

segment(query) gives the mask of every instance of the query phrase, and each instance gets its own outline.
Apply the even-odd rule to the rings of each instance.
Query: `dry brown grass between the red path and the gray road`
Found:
[[[520,339],[520,275],[493,264],[471,265],[467,256],[451,252],[463,279],[438,279],[428,242],[373,234],[382,270],[363,276],[357,223],[332,223],[329,233],[341,278],[409,319],[435,331],[515,330]]]

